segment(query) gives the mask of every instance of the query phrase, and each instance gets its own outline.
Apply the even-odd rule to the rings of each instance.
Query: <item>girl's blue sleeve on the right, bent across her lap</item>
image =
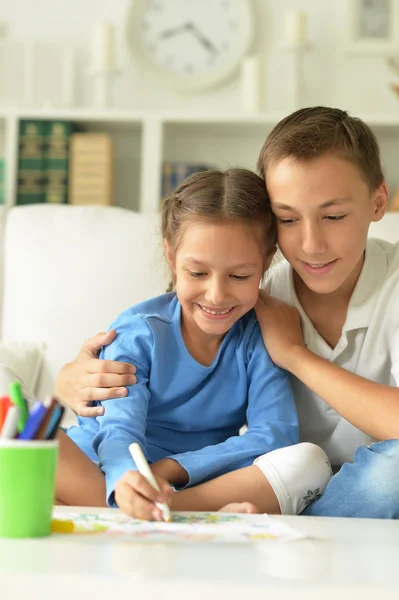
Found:
[[[170,456],[187,471],[187,486],[247,467],[262,454],[298,443],[298,417],[289,374],[272,362],[259,327],[254,328],[252,339],[247,366],[248,429],[220,444]]]

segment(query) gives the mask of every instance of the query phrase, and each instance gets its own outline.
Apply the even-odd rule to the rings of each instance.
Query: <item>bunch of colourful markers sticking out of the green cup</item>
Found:
[[[9,394],[0,398],[0,440],[54,439],[65,410],[58,400],[47,396],[29,412],[19,382],[10,384]]]

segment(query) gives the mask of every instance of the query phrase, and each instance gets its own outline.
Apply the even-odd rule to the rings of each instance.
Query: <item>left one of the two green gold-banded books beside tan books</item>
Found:
[[[44,201],[44,141],[46,122],[19,122],[17,204]]]

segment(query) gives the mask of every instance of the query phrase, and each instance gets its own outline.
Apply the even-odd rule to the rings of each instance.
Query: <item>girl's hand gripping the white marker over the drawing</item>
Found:
[[[136,519],[163,521],[162,511],[155,503],[170,506],[173,490],[165,479],[155,479],[160,492],[138,471],[127,471],[115,486],[115,501],[122,512]]]

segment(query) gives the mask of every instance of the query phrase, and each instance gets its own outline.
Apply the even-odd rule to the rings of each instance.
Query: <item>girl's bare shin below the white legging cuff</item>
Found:
[[[171,508],[183,511],[217,511],[232,502],[252,502],[261,512],[280,513],[270,483],[255,465],[176,492],[172,496]]]

